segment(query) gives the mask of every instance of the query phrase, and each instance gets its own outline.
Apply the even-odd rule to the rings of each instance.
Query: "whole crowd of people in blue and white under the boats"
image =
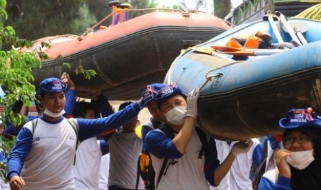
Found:
[[[321,117],[311,108],[280,118],[283,134],[230,142],[197,127],[197,87],[185,94],[175,83],[153,83],[117,112],[100,92],[90,103],[77,102],[76,88],[66,73],[44,79],[36,93],[39,116],[21,127],[7,124],[3,135],[17,136],[10,155],[0,150],[7,188],[321,187]],[[136,128],[144,107],[152,117]]]

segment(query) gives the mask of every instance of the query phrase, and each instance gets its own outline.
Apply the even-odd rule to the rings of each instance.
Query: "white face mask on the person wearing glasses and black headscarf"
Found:
[[[296,169],[304,169],[314,160],[313,149],[309,151],[291,151],[291,156],[288,156],[286,160]]]

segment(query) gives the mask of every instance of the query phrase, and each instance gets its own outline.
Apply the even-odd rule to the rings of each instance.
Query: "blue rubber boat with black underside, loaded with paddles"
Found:
[[[302,36],[295,39],[288,33],[294,30],[287,30],[298,32],[298,25],[305,28],[303,45],[297,44],[304,41]],[[283,29],[275,31],[275,26]],[[271,47],[278,48],[226,46],[235,36],[251,36],[258,30],[270,34]],[[182,52],[164,83],[175,82],[186,93],[201,88],[197,124],[210,136],[244,140],[278,134],[282,132],[278,120],[289,109],[312,107],[321,114],[320,32],[321,23],[307,19],[238,25]]]

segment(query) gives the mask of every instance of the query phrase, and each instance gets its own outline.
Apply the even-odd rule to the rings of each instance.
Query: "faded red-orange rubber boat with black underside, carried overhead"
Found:
[[[110,100],[137,99],[149,83],[162,82],[182,49],[231,28],[222,19],[203,12],[155,11],[112,25],[86,36],[51,36],[35,41],[51,43],[41,70],[34,70],[35,85],[46,77],[70,73],[77,96],[91,98],[101,91]],[[69,63],[70,68],[64,63]],[[74,72],[81,65],[95,70],[90,80]]]

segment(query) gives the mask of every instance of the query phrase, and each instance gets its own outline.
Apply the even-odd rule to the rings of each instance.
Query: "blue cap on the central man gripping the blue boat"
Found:
[[[157,93],[155,100],[157,101],[158,105],[162,102],[166,101],[168,98],[171,98],[175,94],[181,94],[186,98],[186,94],[180,89],[175,83],[171,83],[170,85],[166,85],[162,89],[159,90]]]

